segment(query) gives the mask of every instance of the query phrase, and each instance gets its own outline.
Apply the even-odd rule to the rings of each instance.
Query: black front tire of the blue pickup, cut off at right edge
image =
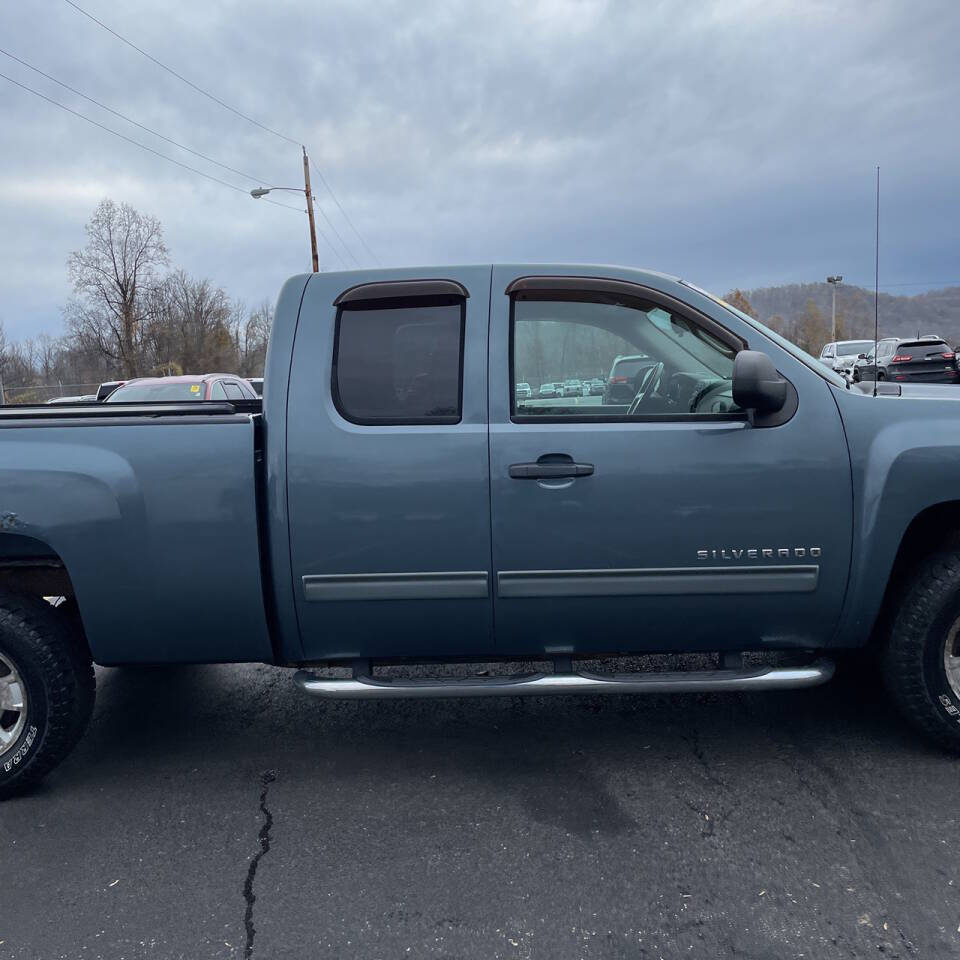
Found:
[[[960,550],[944,550],[919,564],[901,595],[883,654],[884,681],[900,712],[935,743],[960,754],[960,674],[950,682],[948,652],[960,657]]]

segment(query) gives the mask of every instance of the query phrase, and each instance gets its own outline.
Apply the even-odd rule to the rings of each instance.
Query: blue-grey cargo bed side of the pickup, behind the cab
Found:
[[[0,564],[63,564],[97,662],[271,659],[239,406],[0,409]]]

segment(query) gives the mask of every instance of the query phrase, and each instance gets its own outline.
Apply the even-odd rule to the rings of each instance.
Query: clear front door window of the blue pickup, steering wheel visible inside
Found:
[[[514,420],[742,415],[734,340],[686,315],[641,301],[530,297],[514,301],[512,326],[514,383],[533,387],[529,397],[514,389]],[[602,392],[579,387],[594,379]]]

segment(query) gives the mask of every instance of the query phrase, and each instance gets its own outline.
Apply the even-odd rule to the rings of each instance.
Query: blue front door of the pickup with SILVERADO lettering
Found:
[[[494,270],[499,649],[820,646],[839,616],[851,538],[829,387],[705,297],[682,302],[679,284],[662,281],[667,295],[651,279]],[[767,352],[799,398],[765,425],[733,402],[745,346]],[[541,383],[610,376],[618,357],[645,358],[629,397],[538,399]],[[517,398],[521,381],[531,399]]]

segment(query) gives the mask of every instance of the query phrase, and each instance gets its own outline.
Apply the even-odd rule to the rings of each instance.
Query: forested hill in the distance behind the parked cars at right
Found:
[[[819,351],[830,339],[830,287],[826,283],[763,287],[743,291],[743,296],[758,320],[811,352]],[[960,287],[912,297],[881,293],[879,317],[881,337],[932,333],[956,345],[960,343]],[[837,290],[837,328],[838,337],[873,337],[872,290],[841,285]]]

